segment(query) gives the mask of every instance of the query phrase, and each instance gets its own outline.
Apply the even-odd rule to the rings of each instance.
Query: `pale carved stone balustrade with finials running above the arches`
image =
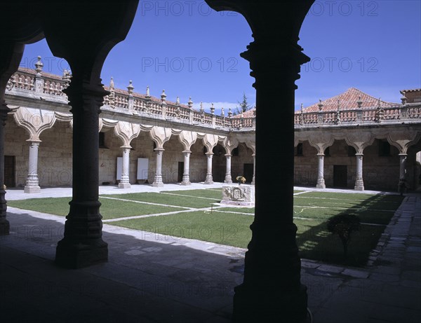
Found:
[[[63,76],[48,73],[41,73],[42,69],[19,69],[10,78],[7,87],[7,94],[25,95],[31,91],[36,95],[46,95],[63,99],[67,102],[67,96],[63,89],[70,83],[70,74],[65,71]],[[112,82],[113,83],[113,82]],[[225,116],[223,110],[220,116],[205,111],[192,109],[192,102],[187,105],[179,102],[169,102],[165,98],[158,99],[147,95],[140,95],[133,92],[133,85],[128,90],[114,89],[114,84],[105,87],[110,94],[105,96],[104,105],[101,109],[112,110],[122,114],[136,114],[152,116],[172,122],[190,123],[205,128],[225,130],[253,130],[255,129],[256,118],[232,116],[229,111]],[[166,95],[164,94],[166,97]],[[350,109],[338,111],[316,111],[305,112],[295,111],[295,128],[316,128],[316,127],[338,127],[343,125],[370,125],[375,123],[419,123],[421,120],[421,104],[403,104],[392,107],[373,107],[364,109]]]

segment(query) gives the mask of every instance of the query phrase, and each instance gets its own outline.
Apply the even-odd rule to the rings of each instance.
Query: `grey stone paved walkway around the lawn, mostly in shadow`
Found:
[[[174,186],[158,189],[187,189]],[[71,195],[68,188],[51,190]],[[22,194],[9,190],[6,196]],[[8,220],[11,235],[0,237],[1,322],[230,322],[245,249],[104,224],[109,262],[65,270],[53,264],[63,217],[10,207]],[[303,260],[302,282],[313,322],[419,322],[421,195],[406,195],[368,266]]]

